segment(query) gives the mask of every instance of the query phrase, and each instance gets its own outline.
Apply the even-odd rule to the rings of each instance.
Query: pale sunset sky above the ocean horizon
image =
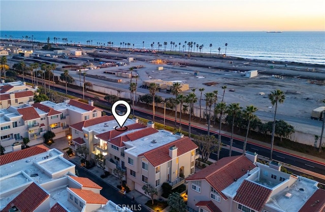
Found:
[[[0,29],[324,31],[324,8],[324,0],[0,0]]]

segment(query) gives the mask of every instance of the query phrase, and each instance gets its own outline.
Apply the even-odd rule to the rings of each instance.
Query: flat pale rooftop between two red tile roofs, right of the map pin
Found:
[[[159,130],[151,135],[144,136],[140,139],[134,140],[133,142],[124,142],[128,154],[138,156],[142,153],[156,149],[177,140],[178,138],[169,131]],[[152,141],[154,140],[154,143]]]

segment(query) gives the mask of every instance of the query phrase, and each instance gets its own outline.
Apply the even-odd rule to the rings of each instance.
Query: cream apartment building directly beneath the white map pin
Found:
[[[198,146],[188,137],[157,130],[151,121],[144,126],[127,119],[125,131],[117,126],[113,116],[71,125],[72,149],[85,146],[91,158],[103,154],[106,170],[124,169],[127,186],[142,193],[142,186],[150,184],[161,194],[163,183],[176,188],[194,173]]]

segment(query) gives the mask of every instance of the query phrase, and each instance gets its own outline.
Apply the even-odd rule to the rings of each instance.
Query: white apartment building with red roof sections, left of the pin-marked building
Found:
[[[102,116],[102,110],[93,107],[92,101],[29,103],[0,110],[0,143],[6,153],[19,149],[24,137],[29,138],[30,146],[41,144],[46,131],[54,132],[55,138],[64,137],[70,134],[69,125]]]

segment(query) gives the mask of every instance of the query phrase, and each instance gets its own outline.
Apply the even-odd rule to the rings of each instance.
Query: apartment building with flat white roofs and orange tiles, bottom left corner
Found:
[[[0,161],[1,211],[122,209],[100,194],[102,187],[76,176],[75,165],[56,149],[35,146],[0,156]]]

